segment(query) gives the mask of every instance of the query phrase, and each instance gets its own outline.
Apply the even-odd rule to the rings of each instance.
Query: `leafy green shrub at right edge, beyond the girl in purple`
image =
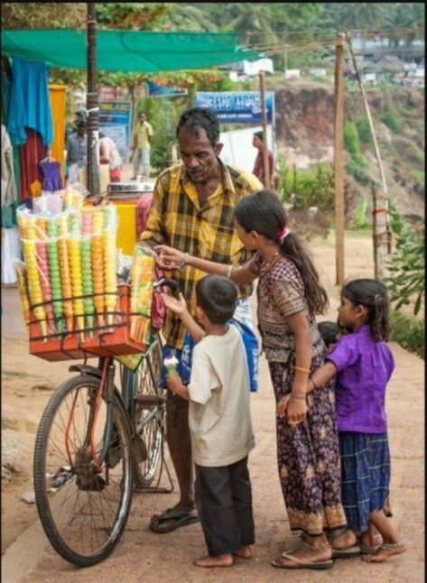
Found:
[[[425,285],[424,231],[415,230],[400,216],[393,204],[390,217],[396,245],[388,264],[390,274],[385,282],[389,287],[391,301],[396,302],[395,309],[413,305],[413,314],[416,316],[422,306]]]

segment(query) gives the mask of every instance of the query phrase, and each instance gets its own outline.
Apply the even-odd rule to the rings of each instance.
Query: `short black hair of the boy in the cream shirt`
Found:
[[[223,275],[205,275],[196,284],[196,302],[212,324],[225,324],[236,310],[237,287]]]

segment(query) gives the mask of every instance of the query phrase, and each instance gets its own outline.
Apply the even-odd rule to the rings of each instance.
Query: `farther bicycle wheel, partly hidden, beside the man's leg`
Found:
[[[159,387],[162,367],[162,344],[156,337],[141,365],[134,372],[125,368],[123,384],[134,394],[133,425],[137,435],[144,440],[147,449],[147,459],[135,460],[135,486],[148,487],[153,483],[156,470],[162,460],[164,405],[160,402],[164,391]],[[153,396],[154,403],[138,402],[139,397]],[[155,403],[155,397],[159,401]]]

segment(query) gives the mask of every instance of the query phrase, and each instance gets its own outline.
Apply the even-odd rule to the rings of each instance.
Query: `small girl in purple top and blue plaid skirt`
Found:
[[[361,548],[373,527],[382,544],[363,556],[383,562],[405,551],[385,511],[390,491],[390,451],[385,414],[385,387],[395,361],[386,344],[389,335],[388,297],[382,282],[358,279],[341,291],[339,337],[327,362],[311,374],[313,389],[336,375],[336,412],[341,458],[342,502],[348,525],[360,533]]]

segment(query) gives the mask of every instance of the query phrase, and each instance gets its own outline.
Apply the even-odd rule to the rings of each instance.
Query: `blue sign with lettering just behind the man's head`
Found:
[[[227,124],[261,124],[259,91],[203,91],[195,95],[196,107],[213,109],[220,122]],[[274,91],[265,92],[267,123],[274,122]]]

